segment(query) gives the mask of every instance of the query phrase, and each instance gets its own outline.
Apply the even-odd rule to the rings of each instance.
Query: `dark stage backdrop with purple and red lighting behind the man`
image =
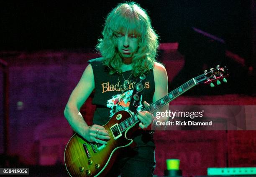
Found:
[[[67,176],[64,147],[72,130],[63,110],[87,60],[99,56],[94,47],[104,18],[118,2],[0,1],[0,59],[9,66],[10,157],[1,155],[0,166],[29,166],[36,168],[34,174],[39,169],[38,176],[43,172],[42,176]],[[228,83],[195,87],[170,105],[256,105],[254,0],[136,2],[148,10],[160,43],[169,43],[158,52],[168,73],[169,91],[217,64],[229,69]],[[173,47],[177,43],[179,47]],[[3,100],[4,70],[0,71]],[[91,97],[81,110],[87,122],[94,109],[90,102]],[[4,153],[3,112],[1,101],[0,154]],[[181,160],[186,176],[207,175],[207,167],[256,167],[255,137],[256,131],[156,132],[154,174],[164,174],[169,158]]]

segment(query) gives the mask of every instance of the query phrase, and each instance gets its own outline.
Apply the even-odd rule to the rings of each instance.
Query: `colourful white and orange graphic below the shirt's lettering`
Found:
[[[110,117],[112,117],[118,111],[121,111],[121,110],[128,111],[132,95],[133,95],[133,90],[128,90],[122,94],[112,96],[112,98],[107,101],[107,107],[111,109]],[[141,95],[141,100],[142,100],[142,95]],[[138,106],[138,111],[142,110],[141,100]]]

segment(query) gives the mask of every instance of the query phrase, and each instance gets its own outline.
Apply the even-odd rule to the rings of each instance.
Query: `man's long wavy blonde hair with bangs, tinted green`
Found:
[[[115,34],[128,30],[138,37],[138,50],[133,55],[133,75],[148,73],[154,67],[156,51],[159,46],[158,36],[151,26],[146,10],[135,2],[126,2],[115,7],[106,18],[102,38],[96,49],[103,57],[103,64],[110,69],[110,74],[121,72],[122,58],[117,50]]]

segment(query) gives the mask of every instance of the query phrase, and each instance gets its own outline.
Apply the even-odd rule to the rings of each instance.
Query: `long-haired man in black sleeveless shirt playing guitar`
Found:
[[[75,132],[88,142],[107,144],[110,134],[102,125],[120,110],[129,110],[136,80],[146,75],[138,106],[139,129],[132,137],[135,145],[127,147],[117,158],[107,176],[150,177],[156,165],[154,140],[150,127],[154,115],[141,111],[148,103],[168,94],[168,79],[163,65],[155,61],[158,36],[146,10],[135,2],[119,4],[106,18],[102,38],[96,48],[102,57],[89,60],[81,80],[73,90],[64,115]],[[92,91],[96,105],[93,125],[89,127],[79,109]],[[143,103],[142,103],[143,102]],[[168,104],[161,108],[168,110]],[[167,117],[161,121],[166,122]]]

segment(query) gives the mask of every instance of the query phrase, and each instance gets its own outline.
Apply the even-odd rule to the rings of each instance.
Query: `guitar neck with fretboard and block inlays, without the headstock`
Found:
[[[154,113],[154,112],[156,112],[156,110],[159,110],[161,107],[168,104],[175,98],[179,97],[179,95],[182,95],[184,92],[191,89],[195,85],[197,85],[197,82],[196,82],[195,78],[193,78],[193,79],[189,80],[188,82],[184,83],[183,85],[181,85],[180,87],[178,87],[177,89],[173,90],[172,92],[169,92],[167,95],[162,97],[160,100],[157,100],[156,102],[152,103],[148,107],[145,107],[141,111],[148,111],[150,113]],[[133,116],[129,117],[128,119],[126,119],[125,121],[121,122],[118,125],[121,132],[127,130],[129,127],[132,127],[133,125],[140,122],[140,120],[138,120],[138,118],[136,116],[137,114],[138,113],[134,114]]]

